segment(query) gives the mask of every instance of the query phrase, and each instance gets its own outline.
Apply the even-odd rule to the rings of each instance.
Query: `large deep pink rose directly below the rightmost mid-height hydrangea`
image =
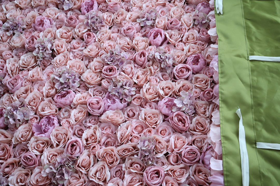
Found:
[[[181,111],[174,112],[169,116],[169,122],[172,128],[177,132],[186,132],[190,127],[189,116]]]

